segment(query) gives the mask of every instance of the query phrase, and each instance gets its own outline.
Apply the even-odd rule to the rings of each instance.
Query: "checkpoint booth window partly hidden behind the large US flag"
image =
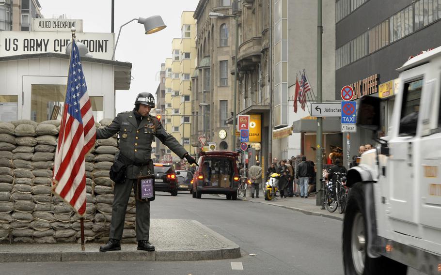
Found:
[[[31,120],[61,120],[66,96],[66,85],[32,84]],[[94,119],[99,122],[104,118],[103,97],[90,96]]]

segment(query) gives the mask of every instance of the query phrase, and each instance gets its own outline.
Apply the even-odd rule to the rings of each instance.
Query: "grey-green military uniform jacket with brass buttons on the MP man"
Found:
[[[147,164],[151,163],[150,153],[154,136],[181,159],[187,153],[176,138],[165,131],[161,122],[151,115],[143,117],[138,126],[134,111],[119,113],[109,126],[96,129],[96,138],[110,138],[118,132],[120,154],[136,164],[146,164],[142,166],[142,175],[148,175],[149,170],[153,168],[153,165]],[[154,171],[150,170],[150,174],[153,173]],[[136,179],[139,175],[139,166],[127,166],[127,178]]]

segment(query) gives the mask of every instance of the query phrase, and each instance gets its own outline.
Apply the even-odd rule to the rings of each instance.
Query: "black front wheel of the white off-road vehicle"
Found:
[[[364,211],[362,184],[355,183],[347,198],[343,220],[343,266],[347,275],[407,274],[407,266],[380,256],[370,258],[366,253],[368,235]]]

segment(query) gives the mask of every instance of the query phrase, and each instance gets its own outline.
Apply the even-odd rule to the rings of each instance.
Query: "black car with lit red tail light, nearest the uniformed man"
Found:
[[[172,196],[178,194],[177,173],[169,164],[155,163],[155,191],[170,192]]]

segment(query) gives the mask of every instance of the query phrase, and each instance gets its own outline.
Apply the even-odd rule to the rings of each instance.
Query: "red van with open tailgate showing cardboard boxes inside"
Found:
[[[231,151],[202,152],[193,176],[193,198],[201,199],[202,194],[224,194],[227,199],[237,199],[238,156]]]

